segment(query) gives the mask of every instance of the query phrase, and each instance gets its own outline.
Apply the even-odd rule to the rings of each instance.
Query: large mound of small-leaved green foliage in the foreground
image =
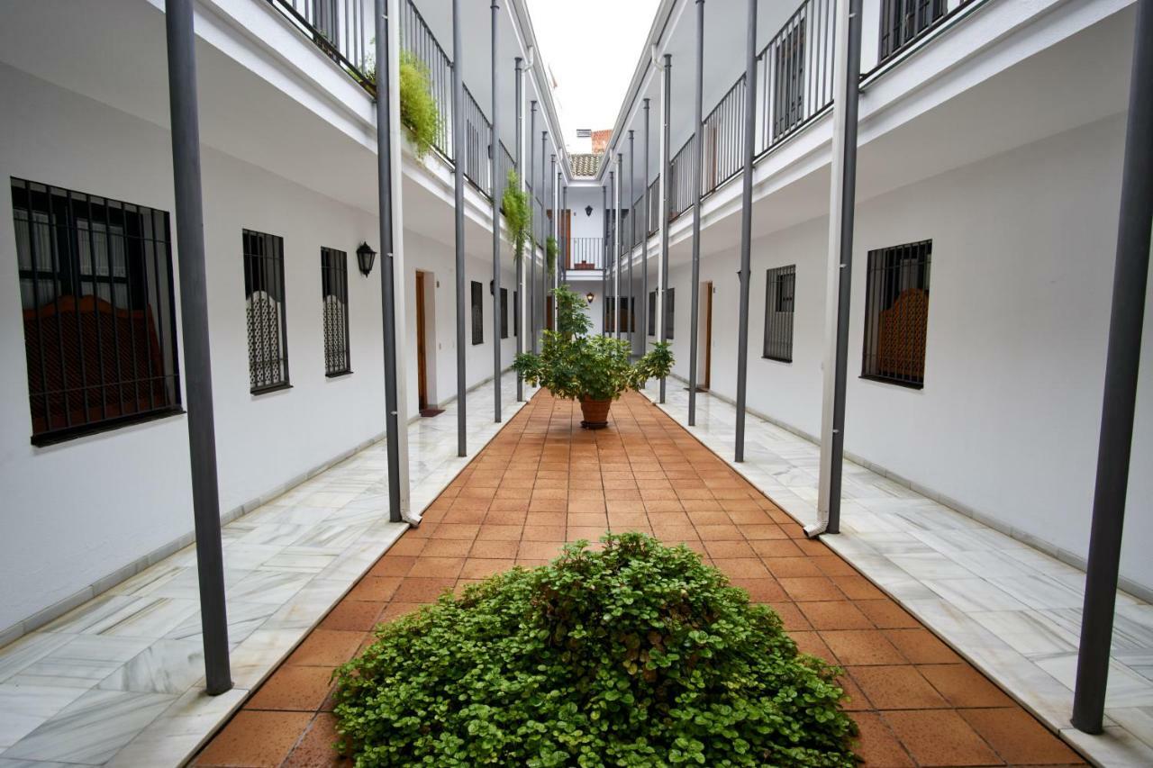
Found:
[[[685,547],[565,548],[377,628],[337,670],[375,766],[852,767],[839,670]]]

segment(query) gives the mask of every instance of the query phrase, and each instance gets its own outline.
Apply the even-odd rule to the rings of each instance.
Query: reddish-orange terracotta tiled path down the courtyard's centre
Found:
[[[339,766],[332,669],[446,588],[545,563],[565,541],[684,542],[845,668],[869,766],[1084,765],[980,672],[648,400],[609,429],[537,394],[197,755],[197,766]]]

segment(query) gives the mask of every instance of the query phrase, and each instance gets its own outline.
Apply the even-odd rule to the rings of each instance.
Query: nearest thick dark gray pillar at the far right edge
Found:
[[[1105,715],[1148,285],[1150,227],[1153,225],[1153,0],[1140,0],[1137,8],[1130,77],[1113,311],[1073,693],[1072,724],[1086,733],[1100,733]]]

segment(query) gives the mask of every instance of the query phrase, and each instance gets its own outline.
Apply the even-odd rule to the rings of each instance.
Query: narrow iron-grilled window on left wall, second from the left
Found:
[[[243,248],[249,390],[258,394],[288,386],[285,241],[244,229]]]

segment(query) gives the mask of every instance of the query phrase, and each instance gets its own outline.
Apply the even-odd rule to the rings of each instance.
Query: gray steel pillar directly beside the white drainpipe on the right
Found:
[[[853,278],[853,209],[857,205],[857,104],[861,81],[861,0],[849,0],[849,57],[845,84],[845,155],[842,163],[841,280],[837,283],[837,353],[832,389],[832,466],[829,468],[829,521],[824,533],[841,533],[841,476],[845,454],[845,379],[849,372],[849,311]]]

